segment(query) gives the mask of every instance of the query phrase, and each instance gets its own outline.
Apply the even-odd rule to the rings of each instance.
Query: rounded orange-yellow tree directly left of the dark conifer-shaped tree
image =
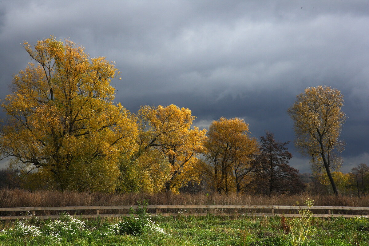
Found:
[[[252,185],[259,146],[248,134],[248,124],[239,118],[222,117],[209,127],[199,169],[219,194],[239,193]]]

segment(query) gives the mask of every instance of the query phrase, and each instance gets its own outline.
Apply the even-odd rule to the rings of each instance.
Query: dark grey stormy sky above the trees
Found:
[[[287,109],[325,85],[344,95],[342,171],[369,165],[369,4],[366,0],[0,1],[0,98],[31,59],[23,42],[54,35],[114,61],[116,97],[192,110],[194,125],[238,117],[251,136],[289,143],[290,165],[310,171],[293,145]],[[0,113],[0,117],[5,117]],[[3,161],[1,165],[5,165]]]

